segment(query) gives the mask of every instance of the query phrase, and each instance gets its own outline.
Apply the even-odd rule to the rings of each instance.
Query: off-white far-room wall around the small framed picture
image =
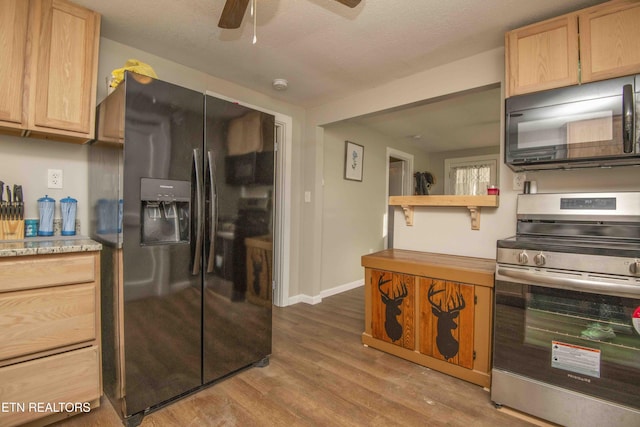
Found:
[[[364,146],[362,181],[344,179],[345,141]],[[423,169],[425,152],[409,142],[390,142],[371,129],[349,122],[324,128],[321,296],[363,279],[360,257],[384,249],[387,147],[414,156]]]

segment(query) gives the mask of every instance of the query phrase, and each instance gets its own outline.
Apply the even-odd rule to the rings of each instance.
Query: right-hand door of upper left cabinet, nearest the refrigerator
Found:
[[[33,4],[30,128],[91,139],[99,15],[62,0]]]

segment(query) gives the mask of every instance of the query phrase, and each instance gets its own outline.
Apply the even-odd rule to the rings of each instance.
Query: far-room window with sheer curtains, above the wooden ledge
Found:
[[[445,194],[486,195],[498,182],[498,155],[445,159],[444,172]]]

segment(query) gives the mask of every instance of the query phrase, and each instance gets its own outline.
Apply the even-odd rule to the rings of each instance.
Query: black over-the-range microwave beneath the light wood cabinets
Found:
[[[514,171],[640,164],[640,75],[508,98]]]

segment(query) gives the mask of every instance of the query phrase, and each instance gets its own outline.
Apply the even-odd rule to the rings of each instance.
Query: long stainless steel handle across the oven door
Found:
[[[526,285],[542,286],[555,289],[567,289],[592,294],[613,295],[625,298],[640,298],[640,286],[626,283],[600,282],[576,277],[539,274],[529,270],[498,267],[496,281],[508,280]]]

